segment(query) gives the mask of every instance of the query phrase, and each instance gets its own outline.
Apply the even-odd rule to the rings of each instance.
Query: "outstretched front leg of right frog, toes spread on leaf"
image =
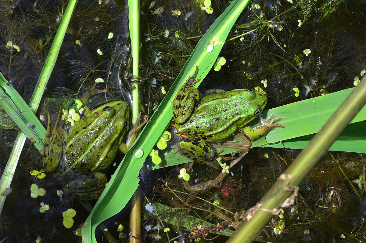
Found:
[[[272,117],[272,115],[273,115],[273,113],[270,114],[266,120],[264,120],[262,118],[262,114],[259,114],[259,123],[261,125],[256,126],[255,128],[252,128],[251,126],[246,126],[242,129],[242,132],[245,134],[245,136],[247,138],[250,139],[250,141],[255,141],[255,140],[263,137],[270,129],[272,129],[276,126],[285,128],[285,126],[275,123],[277,121],[284,119],[284,117],[270,119]]]

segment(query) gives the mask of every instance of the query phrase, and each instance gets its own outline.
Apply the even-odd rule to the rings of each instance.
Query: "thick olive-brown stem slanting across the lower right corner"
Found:
[[[279,213],[277,209],[290,206],[294,202],[297,188],[302,180],[310,173],[311,169],[366,103],[365,93],[366,77],[363,77],[360,84],[356,86],[322,129],[311,139],[305,149],[281,174],[257,206],[253,207],[253,210],[250,211],[251,217],[248,220],[244,218],[243,224],[228,239],[228,243],[252,242],[271,218]]]

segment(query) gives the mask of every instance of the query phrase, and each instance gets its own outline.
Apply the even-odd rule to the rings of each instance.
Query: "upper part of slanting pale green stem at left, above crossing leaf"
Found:
[[[48,56],[45,60],[45,64],[42,68],[40,77],[38,78],[37,86],[34,89],[33,95],[29,102],[29,107],[33,113],[36,113],[38,106],[40,104],[43,92],[46,88],[49,77],[51,76],[53,67],[55,67],[57,56],[61,48],[61,44],[64,40],[64,36],[67,30],[67,26],[70,23],[70,19],[75,10],[76,3],[78,0],[70,0],[67,4],[65,14],[63,15],[60,26],[57,29],[55,39],[52,42],[51,48],[48,52]]]

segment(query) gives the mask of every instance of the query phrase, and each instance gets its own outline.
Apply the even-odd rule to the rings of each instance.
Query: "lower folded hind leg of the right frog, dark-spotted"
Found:
[[[216,149],[210,143],[202,139],[202,137],[180,136],[182,140],[178,142],[178,147],[182,155],[193,161],[219,168],[219,164],[214,163],[217,158]]]

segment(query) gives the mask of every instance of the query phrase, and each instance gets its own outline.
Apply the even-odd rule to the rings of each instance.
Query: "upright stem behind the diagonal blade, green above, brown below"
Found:
[[[140,1],[128,0],[128,23],[130,28],[132,74],[139,77],[139,46],[140,46]],[[136,121],[139,114],[139,89],[138,78],[132,85],[132,121]],[[130,231],[134,237],[130,237],[130,243],[141,242],[141,188],[137,187],[132,195],[132,207],[130,212]]]

